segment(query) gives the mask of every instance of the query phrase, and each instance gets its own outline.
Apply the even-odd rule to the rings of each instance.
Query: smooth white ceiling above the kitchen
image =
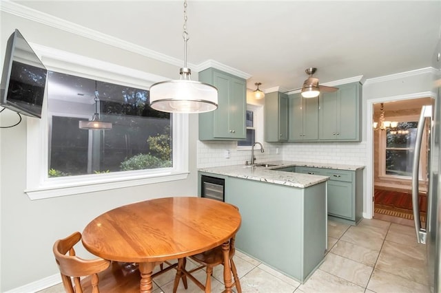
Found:
[[[15,2],[183,60],[183,1]],[[249,89],[296,89],[307,67],[320,83],[430,67],[441,34],[441,1],[189,0],[187,14],[188,63],[245,72]]]

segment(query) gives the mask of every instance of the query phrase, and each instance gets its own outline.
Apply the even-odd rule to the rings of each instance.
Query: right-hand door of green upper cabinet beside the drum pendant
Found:
[[[221,119],[225,124],[225,117],[228,117],[228,133],[230,138],[247,138],[245,127],[245,109],[247,107],[245,81],[238,78],[230,78],[230,91],[228,98],[228,116]]]

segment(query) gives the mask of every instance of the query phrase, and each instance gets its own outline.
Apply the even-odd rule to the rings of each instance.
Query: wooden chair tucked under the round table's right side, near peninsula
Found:
[[[234,206],[234,208],[237,208],[237,206]],[[236,264],[233,261],[234,253],[236,252],[236,248],[234,248],[234,241],[236,239],[236,235],[232,237],[232,239],[229,239],[229,266],[232,269],[232,274],[234,278],[234,283],[232,284],[232,287],[236,286],[236,290],[238,293],[242,292],[242,288],[240,287],[240,281],[238,278],[237,270],[236,270]],[[205,292],[212,292],[212,274],[213,274],[213,268],[216,265],[223,265],[224,259],[223,259],[223,251],[222,246],[217,246],[215,248],[212,248],[211,250],[207,250],[205,252],[201,252],[199,254],[192,255],[189,257],[193,261],[196,261],[200,265],[198,267],[192,269],[192,270],[185,270],[185,264],[187,263],[187,259],[184,257],[183,259],[178,260],[178,272],[176,272],[176,277],[174,279],[174,287],[173,287],[173,293],[176,293],[176,290],[178,290],[179,285],[179,279],[183,278],[183,276],[188,276],[189,279],[191,279],[198,287],[200,287]],[[207,272],[207,278],[205,279],[205,285],[198,281],[192,273],[202,270],[203,268],[206,268]],[[184,287],[187,289],[187,283],[185,282],[186,279],[183,279],[184,281]]]

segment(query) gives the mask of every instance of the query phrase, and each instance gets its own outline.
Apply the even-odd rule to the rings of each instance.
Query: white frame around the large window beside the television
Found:
[[[45,67],[54,72],[147,90],[153,83],[167,79],[37,44],[32,44],[32,48],[39,55]],[[46,97],[43,101],[41,119],[27,119],[25,193],[30,199],[91,193],[187,178],[189,174],[189,115],[176,113],[172,114],[172,168],[48,177],[48,119],[50,117],[48,117],[47,103],[48,98]]]

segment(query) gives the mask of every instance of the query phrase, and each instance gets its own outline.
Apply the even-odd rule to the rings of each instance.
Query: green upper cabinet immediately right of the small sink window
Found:
[[[265,141],[288,139],[288,96],[274,91],[265,95]]]

